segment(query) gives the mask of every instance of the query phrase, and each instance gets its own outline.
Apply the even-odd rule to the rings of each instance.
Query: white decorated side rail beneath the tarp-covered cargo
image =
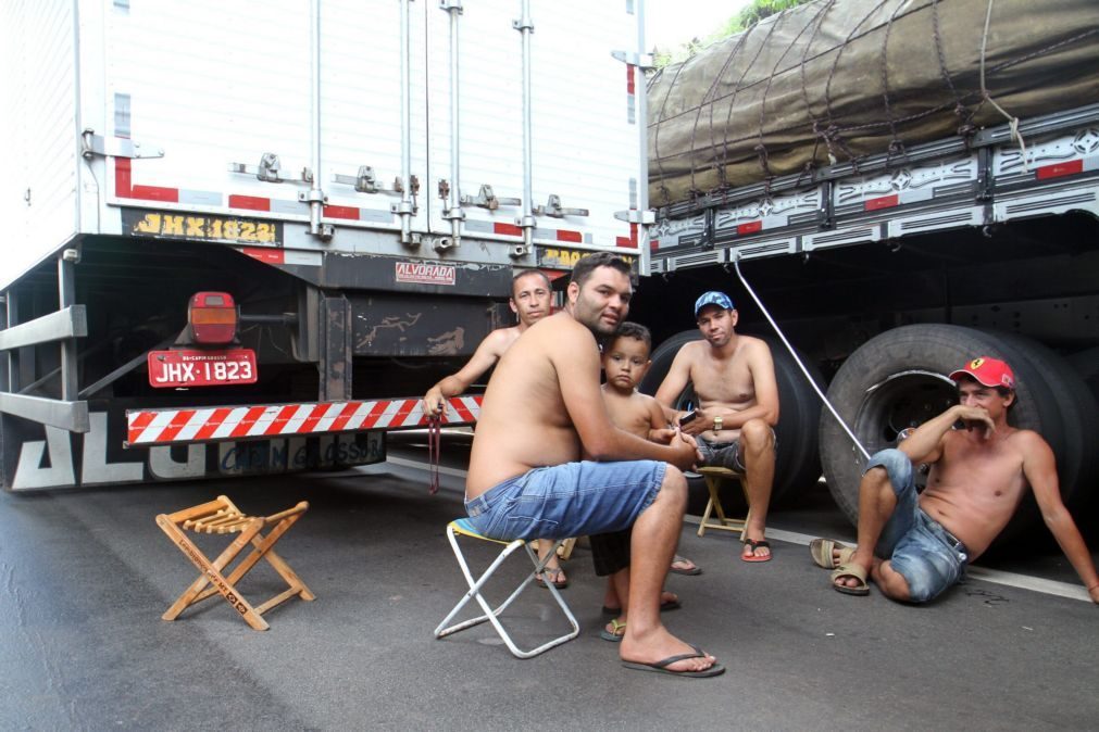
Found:
[[[662,209],[652,271],[987,227],[1068,212],[1099,217],[1099,104],[790,176]]]

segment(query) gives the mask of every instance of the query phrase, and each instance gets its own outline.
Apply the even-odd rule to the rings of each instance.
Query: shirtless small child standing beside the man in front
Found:
[[[675,437],[664,410],[652,396],[637,391],[652,361],[653,337],[648,328],[636,323],[623,323],[618,333],[603,345],[603,402],[615,427],[637,437],[667,444]],[[630,529],[590,537],[591,559],[596,574],[607,577],[603,612],[615,617],[599,634],[607,641],[621,641],[625,634],[630,596]],[[681,558],[680,558],[681,559]],[[673,571],[674,567],[673,567]],[[679,607],[679,598],[667,590],[660,594],[660,610]]]

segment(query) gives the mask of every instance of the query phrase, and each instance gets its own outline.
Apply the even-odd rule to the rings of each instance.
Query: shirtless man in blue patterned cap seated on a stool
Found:
[[[734,330],[736,308],[723,292],[699,297],[695,319],[703,340],[679,349],[656,401],[684,432],[698,440],[703,465],[743,475],[752,510],[741,559],[766,562],[770,545],[764,530],[775,481],[774,427],[778,424],[778,383],[770,348],[759,338]],[[698,407],[677,412],[671,407],[688,383],[693,384]]]

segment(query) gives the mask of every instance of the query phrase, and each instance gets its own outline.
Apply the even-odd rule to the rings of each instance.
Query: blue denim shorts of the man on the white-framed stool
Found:
[[[667,463],[573,462],[535,468],[466,502],[491,539],[565,539],[632,526],[656,498]]]

